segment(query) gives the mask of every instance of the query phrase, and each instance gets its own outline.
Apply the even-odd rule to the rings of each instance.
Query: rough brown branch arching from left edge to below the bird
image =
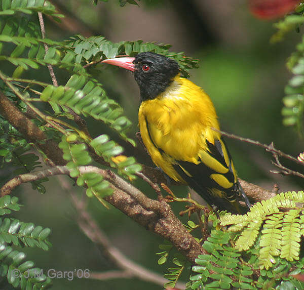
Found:
[[[160,202],[145,196],[140,190],[118,177],[109,170],[93,166],[79,167],[81,173],[95,172],[110,182],[113,194],[104,199],[151,232],[169,240],[191,263],[198,255],[207,254],[195,238],[186,230],[174,215],[166,202]],[[19,175],[7,182],[1,189],[1,195],[9,194],[16,186],[43,177],[69,174],[63,166],[57,166],[38,173]]]

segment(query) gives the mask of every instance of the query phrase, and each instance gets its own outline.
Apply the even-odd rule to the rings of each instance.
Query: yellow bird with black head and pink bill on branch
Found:
[[[178,63],[153,52],[102,63],[134,72],[140,135],[157,167],[195,190],[214,211],[247,212],[250,202],[219,132],[214,105],[202,88],[181,77]]]

